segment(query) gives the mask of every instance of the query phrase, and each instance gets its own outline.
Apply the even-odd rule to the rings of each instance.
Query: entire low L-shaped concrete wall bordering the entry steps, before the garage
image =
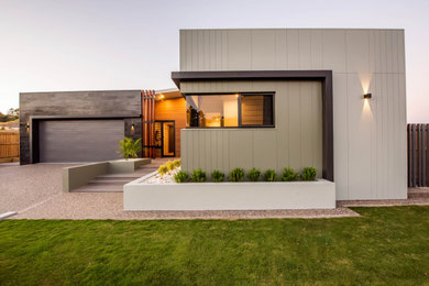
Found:
[[[66,167],[63,168],[63,191],[67,193],[85,186],[103,174],[133,173],[140,166],[150,163],[150,158],[130,158]]]

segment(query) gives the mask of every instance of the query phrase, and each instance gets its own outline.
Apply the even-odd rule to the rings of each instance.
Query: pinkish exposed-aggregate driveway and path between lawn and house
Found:
[[[165,161],[155,161],[160,165]],[[62,168],[72,164],[35,164],[0,168],[0,213],[10,219],[264,219],[356,217],[346,206],[428,205],[429,198],[339,201],[334,210],[123,211],[122,193],[62,193]],[[147,166],[147,165],[146,165]],[[142,172],[142,170],[138,170]]]

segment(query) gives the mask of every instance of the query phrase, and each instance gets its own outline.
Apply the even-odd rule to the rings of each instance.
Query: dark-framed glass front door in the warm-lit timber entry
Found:
[[[161,152],[162,157],[175,156],[175,122],[156,121],[155,122],[155,145]],[[158,153],[158,154],[160,154]]]

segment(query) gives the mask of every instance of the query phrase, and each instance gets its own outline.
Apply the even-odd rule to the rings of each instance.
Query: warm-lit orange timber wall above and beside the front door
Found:
[[[186,101],[184,98],[165,99],[155,103],[155,120],[174,120],[176,157],[180,157],[180,130],[186,128]]]

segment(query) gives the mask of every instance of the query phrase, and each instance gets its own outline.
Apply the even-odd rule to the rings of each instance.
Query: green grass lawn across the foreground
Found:
[[[360,218],[0,222],[0,285],[428,284],[429,207]]]

